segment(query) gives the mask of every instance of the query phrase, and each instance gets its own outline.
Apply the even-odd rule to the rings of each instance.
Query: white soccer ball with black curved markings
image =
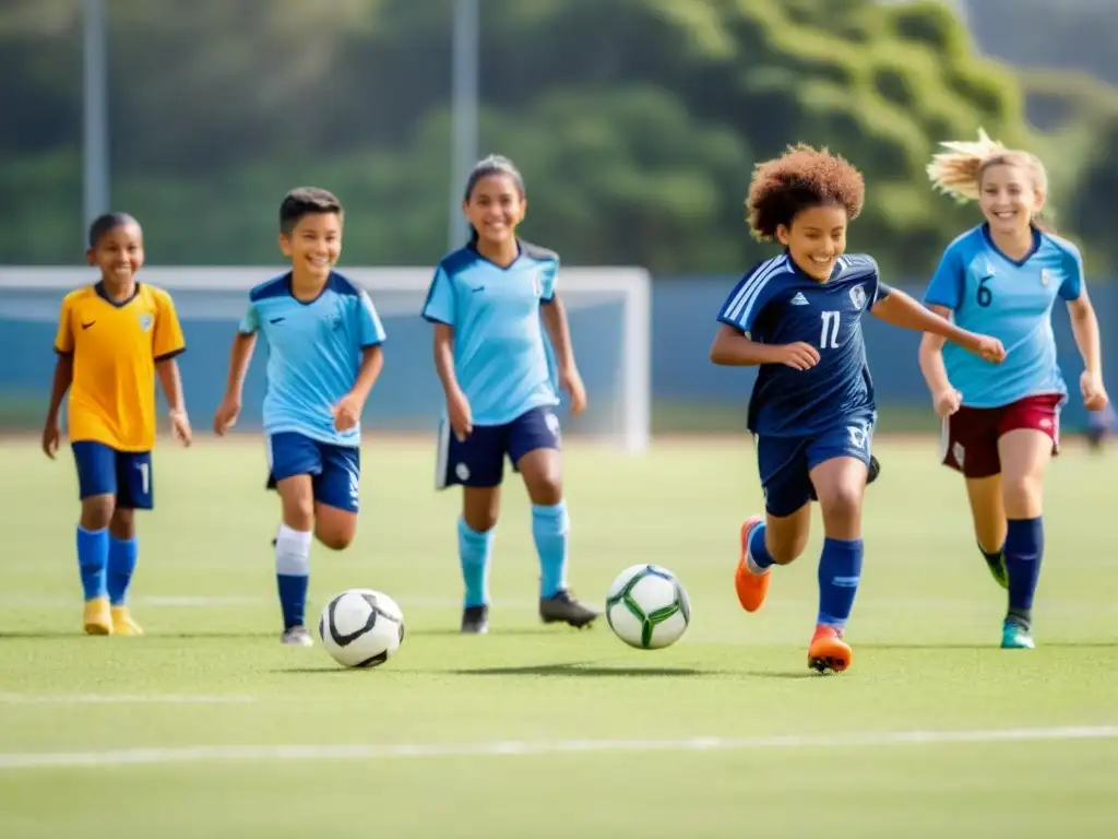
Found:
[[[350,588],[322,610],[319,638],[342,667],[377,667],[400,649],[404,613],[382,592]]]

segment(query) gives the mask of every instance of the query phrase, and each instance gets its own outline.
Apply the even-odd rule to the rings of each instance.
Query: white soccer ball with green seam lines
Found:
[[[622,641],[659,650],[679,641],[691,622],[691,602],[679,578],[659,565],[634,565],[606,593],[606,620]]]

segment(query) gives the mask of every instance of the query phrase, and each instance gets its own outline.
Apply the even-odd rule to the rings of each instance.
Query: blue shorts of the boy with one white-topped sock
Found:
[[[314,500],[357,512],[361,506],[361,450],[320,443],[305,434],[282,431],[265,437],[268,446],[268,489],[297,474],[311,475]]]

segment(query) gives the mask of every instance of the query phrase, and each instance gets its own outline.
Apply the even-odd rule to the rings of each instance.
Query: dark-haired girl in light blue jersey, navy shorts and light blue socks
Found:
[[[517,238],[527,201],[513,164],[486,158],[470,176],[463,209],[470,244],[435,272],[423,317],[435,324],[435,367],[446,393],[436,487],[463,487],[458,559],[462,631],[489,629],[489,567],[504,459],[524,478],[540,559],[540,618],[571,626],[598,613],[567,587],[569,517],[562,496],[559,404],[541,329],[551,338],[571,413],[586,407],[567,314],[556,293],[559,257]]]

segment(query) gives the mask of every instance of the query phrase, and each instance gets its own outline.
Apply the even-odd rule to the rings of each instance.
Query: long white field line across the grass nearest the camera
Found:
[[[489,743],[349,746],[184,746],[97,752],[0,753],[0,770],[94,769],[151,764],[273,761],[385,761],[397,758],[523,757],[626,752],[728,752],[757,750],[875,748],[1030,741],[1118,738],[1118,725],[984,730],[866,732],[836,736],[691,737],[686,739],[498,741]]]

